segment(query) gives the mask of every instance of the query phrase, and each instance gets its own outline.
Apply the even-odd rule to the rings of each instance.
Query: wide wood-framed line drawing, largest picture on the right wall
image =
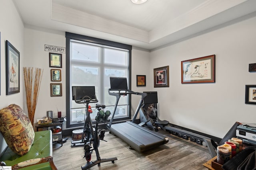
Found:
[[[215,55],[181,62],[181,83],[215,82]]]

